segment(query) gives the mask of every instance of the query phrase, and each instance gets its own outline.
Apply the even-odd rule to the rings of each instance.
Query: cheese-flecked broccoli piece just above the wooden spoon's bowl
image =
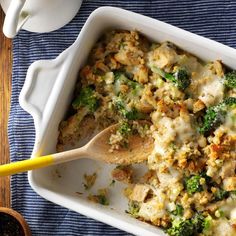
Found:
[[[127,120],[140,120],[145,118],[145,114],[139,112],[135,107],[128,107],[121,97],[115,99],[115,106]]]

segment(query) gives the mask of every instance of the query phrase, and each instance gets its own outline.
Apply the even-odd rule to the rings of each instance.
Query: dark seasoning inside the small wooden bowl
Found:
[[[13,216],[0,212],[0,235],[1,236],[24,236],[24,230]]]

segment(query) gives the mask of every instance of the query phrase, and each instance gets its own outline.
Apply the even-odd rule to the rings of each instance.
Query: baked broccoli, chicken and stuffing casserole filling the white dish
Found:
[[[152,135],[141,179],[132,166],[112,173],[127,184],[127,213],[170,236],[236,235],[236,71],[220,58],[202,62],[173,43],[115,30],[94,45],[76,87],[58,151],[113,123],[120,127],[111,152],[128,148],[134,131]]]

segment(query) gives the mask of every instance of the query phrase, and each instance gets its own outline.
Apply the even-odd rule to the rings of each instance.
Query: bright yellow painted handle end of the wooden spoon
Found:
[[[24,161],[12,162],[0,165],[0,176],[13,175],[16,173],[50,166],[54,163],[53,155],[36,157]]]

